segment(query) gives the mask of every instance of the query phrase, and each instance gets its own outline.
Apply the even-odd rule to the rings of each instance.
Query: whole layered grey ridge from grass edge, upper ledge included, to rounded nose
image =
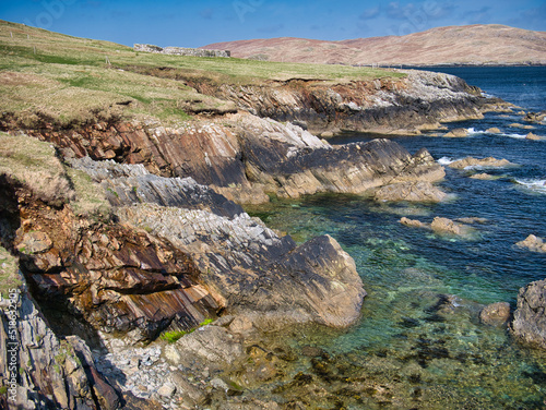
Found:
[[[151,176],[142,166],[72,164],[90,167],[90,174],[114,193],[122,224],[189,255],[218,309],[335,327],[357,318],[366,292],[353,260],[333,238],[296,246],[192,179]]]

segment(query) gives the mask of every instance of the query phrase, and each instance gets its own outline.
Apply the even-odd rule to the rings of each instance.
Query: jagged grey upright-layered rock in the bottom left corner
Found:
[[[120,408],[119,394],[97,372],[86,343],[76,336],[57,338],[26,291],[12,300],[15,302],[0,312],[0,350],[8,358],[14,351],[20,373],[13,395],[16,402],[11,405],[23,409]],[[15,326],[10,322],[12,315],[16,316]],[[5,381],[11,361],[3,359],[0,375]]]

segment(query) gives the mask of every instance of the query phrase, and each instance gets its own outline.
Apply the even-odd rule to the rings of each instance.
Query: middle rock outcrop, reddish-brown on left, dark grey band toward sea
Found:
[[[412,157],[387,140],[331,146],[300,126],[250,114],[179,129],[97,123],[79,132],[35,135],[55,142],[68,157],[142,164],[156,176],[191,177],[239,203],[266,202],[266,193],[361,194],[384,184],[434,182],[444,176],[426,149]]]

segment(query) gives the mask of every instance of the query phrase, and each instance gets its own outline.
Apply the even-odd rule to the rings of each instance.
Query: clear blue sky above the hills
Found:
[[[546,1],[15,0],[0,1],[0,19],[127,46],[199,47],[250,38],[405,35],[464,24],[546,31]]]

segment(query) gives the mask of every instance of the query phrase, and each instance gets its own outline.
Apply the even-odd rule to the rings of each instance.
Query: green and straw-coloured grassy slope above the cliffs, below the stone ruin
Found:
[[[202,79],[212,85],[289,79],[346,82],[401,75],[345,65],[135,52],[114,43],[0,21],[0,112],[14,112],[28,126],[36,122],[37,113],[60,124],[85,122],[97,116],[179,122],[189,119],[185,111],[234,108],[232,102],[197,93],[183,81],[122,70],[131,67],[173,68],[179,79]],[[132,102],[121,104],[127,101]]]

